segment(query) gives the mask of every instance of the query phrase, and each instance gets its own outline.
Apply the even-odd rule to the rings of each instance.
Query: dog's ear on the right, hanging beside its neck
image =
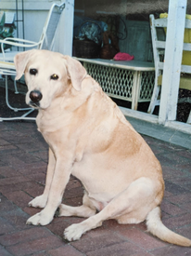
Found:
[[[81,90],[82,82],[87,72],[83,68],[80,61],[77,61],[70,56],[64,56],[67,61],[67,69],[70,76],[71,84],[76,90]]]

